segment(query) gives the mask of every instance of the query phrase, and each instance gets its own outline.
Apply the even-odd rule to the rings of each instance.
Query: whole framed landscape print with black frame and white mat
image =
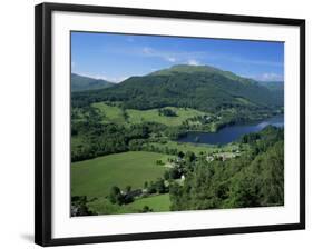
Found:
[[[36,7],[36,242],[305,228],[305,21]]]

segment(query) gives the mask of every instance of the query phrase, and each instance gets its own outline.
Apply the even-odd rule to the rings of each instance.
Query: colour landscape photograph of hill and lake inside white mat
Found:
[[[70,216],[284,206],[284,42],[70,32]]]

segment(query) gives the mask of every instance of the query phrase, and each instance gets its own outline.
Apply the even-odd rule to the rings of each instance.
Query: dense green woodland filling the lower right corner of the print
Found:
[[[284,132],[267,127],[242,142],[251,152],[227,161],[186,160],[183,186],[169,187],[172,210],[284,205]]]

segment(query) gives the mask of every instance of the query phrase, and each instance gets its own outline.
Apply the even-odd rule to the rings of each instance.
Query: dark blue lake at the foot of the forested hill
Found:
[[[178,139],[178,141],[194,142],[194,143],[225,145],[237,140],[239,137],[242,137],[245,133],[260,131],[268,124],[275,127],[284,127],[284,116],[276,116],[254,123],[225,127],[218,130],[217,132],[190,131],[184,138]]]

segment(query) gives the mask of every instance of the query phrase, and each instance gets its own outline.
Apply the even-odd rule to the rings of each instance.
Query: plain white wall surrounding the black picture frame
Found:
[[[76,0],[70,3],[156,8],[218,13],[305,18],[307,32],[307,229],[305,231],[119,242],[67,248],[309,248],[312,242],[312,6],[278,0]],[[33,6],[39,1],[1,2],[0,82],[0,247],[38,248],[33,239]]]

